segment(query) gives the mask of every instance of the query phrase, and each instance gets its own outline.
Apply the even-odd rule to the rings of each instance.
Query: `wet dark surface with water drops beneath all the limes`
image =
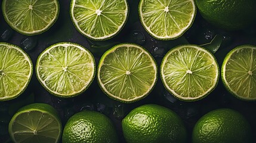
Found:
[[[248,27],[246,30],[237,32],[226,32],[210,26],[201,18],[201,15],[196,15],[196,20],[192,27],[180,38],[172,41],[158,41],[143,29],[140,24],[137,5],[138,1],[129,0],[129,18],[124,29],[114,38],[107,41],[89,41],[82,36],[73,26],[69,16],[70,1],[60,1],[60,15],[53,27],[45,33],[37,36],[24,36],[12,30],[2,17],[0,12],[0,42],[13,43],[23,48],[33,62],[33,71],[35,71],[35,63],[38,55],[48,46],[57,42],[75,42],[85,48],[88,48],[94,54],[95,61],[98,63],[104,51],[121,42],[132,42],[144,46],[155,57],[158,66],[160,66],[162,57],[165,53],[174,46],[193,43],[204,44],[211,42],[216,35],[219,35],[220,40],[215,40],[215,44],[208,46],[215,52],[215,57],[221,65],[224,56],[231,49],[238,45],[254,44],[256,45],[256,26]],[[0,1],[2,3],[2,1]],[[213,42],[212,42],[213,43]],[[33,72],[32,80],[29,83],[26,91],[20,97],[11,100],[0,102],[0,142],[10,142],[8,136],[8,122],[18,108],[32,102],[44,102],[58,111],[60,114],[63,126],[67,119],[81,110],[95,110],[106,114],[113,120],[116,130],[119,134],[120,142],[125,142],[122,135],[122,119],[133,108],[143,104],[159,104],[168,107],[175,111],[186,125],[190,142],[193,126],[196,121],[211,110],[217,108],[232,108],[242,113],[251,124],[253,134],[256,136],[256,102],[241,101],[233,97],[226,91],[221,79],[217,88],[200,101],[183,102],[172,97],[168,91],[164,89],[160,77],[153,91],[143,100],[131,104],[124,104],[108,98],[98,87],[97,80],[83,94],[74,98],[58,98],[48,93],[38,82]],[[256,137],[254,139],[256,142]]]

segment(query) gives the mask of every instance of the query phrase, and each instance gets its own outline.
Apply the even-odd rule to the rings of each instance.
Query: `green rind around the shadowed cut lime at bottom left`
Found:
[[[44,103],[33,103],[33,104],[29,104],[29,105],[26,105],[24,107],[21,107],[17,112],[16,114],[14,114],[14,116],[12,117],[9,125],[8,125],[8,132],[10,133],[10,136],[11,136],[11,139],[13,142],[16,142],[15,139],[14,139],[14,136],[13,134],[11,133],[12,130],[12,125],[14,123],[14,120],[17,118],[17,116],[19,116],[20,114],[23,114],[23,113],[27,113],[29,111],[40,111],[42,113],[47,113],[47,114],[50,114],[58,123],[58,126],[59,126],[59,135],[58,135],[58,139],[56,141],[56,143],[58,141],[60,141],[60,137],[61,137],[61,132],[62,132],[62,125],[61,125],[61,120],[60,120],[60,117],[57,113],[57,111],[55,110],[55,108],[53,108],[51,105],[48,105],[48,104],[44,104]]]

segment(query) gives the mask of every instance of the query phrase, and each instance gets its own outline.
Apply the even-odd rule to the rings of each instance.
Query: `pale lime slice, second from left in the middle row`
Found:
[[[51,94],[74,97],[85,91],[94,79],[94,57],[76,43],[56,43],[39,55],[36,76]]]

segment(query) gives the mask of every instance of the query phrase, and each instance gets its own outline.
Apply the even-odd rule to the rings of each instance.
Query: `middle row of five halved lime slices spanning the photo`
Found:
[[[256,46],[243,45],[227,54],[221,75],[232,94],[256,100]],[[90,86],[95,76],[94,57],[76,43],[62,42],[43,51],[36,62],[36,76],[47,91],[58,97],[74,97]],[[214,55],[197,45],[172,48],[161,63],[165,88],[183,101],[195,101],[217,86],[219,67]],[[98,63],[101,89],[121,102],[146,97],[156,84],[157,64],[143,47],[121,43],[104,53]],[[20,95],[32,76],[32,62],[18,46],[0,43],[0,101]]]

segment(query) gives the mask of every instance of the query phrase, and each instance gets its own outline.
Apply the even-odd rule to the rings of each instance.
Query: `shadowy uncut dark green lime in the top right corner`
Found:
[[[205,20],[222,29],[243,29],[256,20],[254,0],[196,0],[196,4]]]

